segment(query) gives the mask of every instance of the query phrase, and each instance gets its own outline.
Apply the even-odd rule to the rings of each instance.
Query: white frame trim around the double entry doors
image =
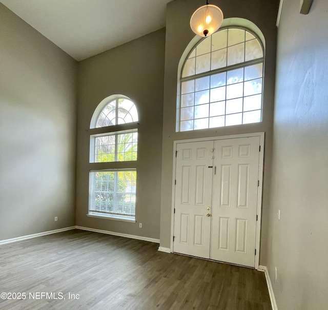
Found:
[[[260,137],[260,154],[259,154],[259,170],[258,170],[258,180],[259,186],[257,189],[257,222],[256,222],[256,241],[255,241],[255,266],[254,268],[258,270],[259,258],[260,258],[260,236],[261,236],[261,211],[262,211],[262,188],[263,188],[263,159],[264,159],[264,132],[256,132],[249,134],[239,134],[230,136],[214,136],[206,138],[196,138],[188,140],[175,140],[173,143],[173,177],[172,177],[172,210],[171,210],[171,244],[170,250],[173,253],[173,236],[174,236],[174,203],[175,203],[175,170],[176,170],[176,157],[175,152],[178,143],[187,142],[199,142],[199,141],[210,141],[210,140],[225,140],[225,139],[236,139],[236,138],[249,138],[249,137]]]

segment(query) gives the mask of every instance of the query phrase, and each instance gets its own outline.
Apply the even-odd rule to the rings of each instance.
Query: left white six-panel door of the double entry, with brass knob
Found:
[[[173,251],[210,257],[213,141],[177,144]]]

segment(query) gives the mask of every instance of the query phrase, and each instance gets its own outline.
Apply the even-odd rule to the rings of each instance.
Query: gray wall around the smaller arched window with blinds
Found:
[[[159,239],[164,53],[161,29],[79,63],[76,225]],[[113,94],[128,96],[138,109],[136,223],[86,215],[89,170],[112,167],[89,163],[90,120],[100,101]]]

